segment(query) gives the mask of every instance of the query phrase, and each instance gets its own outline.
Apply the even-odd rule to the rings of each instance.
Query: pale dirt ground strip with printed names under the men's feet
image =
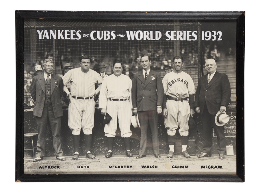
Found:
[[[65,161],[56,157],[44,157],[39,162],[32,159],[24,160],[25,174],[236,174],[236,155],[226,156],[220,160],[218,155],[198,158],[185,158],[176,155],[167,158],[166,154],[160,159],[147,155],[141,159],[127,156],[96,156],[94,159],[79,156],[78,160],[66,157]],[[49,169],[48,169],[49,166]],[[142,168],[146,167],[146,168]],[[148,168],[147,168],[148,167]],[[177,168],[176,168],[177,167]],[[184,167],[184,168],[181,168]]]

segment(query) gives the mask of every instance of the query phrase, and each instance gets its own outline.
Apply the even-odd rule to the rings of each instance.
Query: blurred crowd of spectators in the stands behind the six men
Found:
[[[25,65],[24,70],[24,105],[28,108],[31,108],[34,105],[34,102],[30,95],[30,85],[33,76],[42,73],[42,64],[44,59],[50,58],[55,62],[54,74],[58,76],[63,76],[68,70],[79,67],[78,58],[80,55],[72,55],[72,51],[69,48],[66,49],[66,52],[61,55],[61,52],[58,51],[45,51],[42,57],[38,57],[31,66]],[[82,51],[84,51],[82,49]],[[206,46],[204,49],[204,59],[213,58],[216,61],[220,58],[220,52],[216,45]],[[113,55],[93,55],[91,57],[91,69],[95,70],[101,77],[104,78],[106,75],[113,73],[112,67],[114,61],[121,61],[123,66],[123,74],[129,76],[133,79],[134,74],[142,70],[141,66],[141,56],[142,54],[148,54],[151,56],[152,65],[151,69],[157,71],[161,75],[161,79],[173,70],[172,68],[172,57],[174,56],[173,49],[163,49],[159,46],[154,47],[152,45],[142,48],[130,48],[122,49],[118,47]],[[198,66],[198,54],[194,50],[188,48],[188,46],[183,47],[180,50],[180,55],[185,57],[185,66]],[[227,48],[226,55],[233,55],[233,50]],[[115,56],[115,57],[112,57]],[[98,57],[98,58],[96,58]],[[62,64],[62,66],[61,66]],[[62,70],[63,69],[63,70]],[[67,85],[67,88],[70,88],[70,84]],[[65,96],[65,95],[64,95]],[[63,106],[68,106],[69,102],[65,96],[62,98]]]

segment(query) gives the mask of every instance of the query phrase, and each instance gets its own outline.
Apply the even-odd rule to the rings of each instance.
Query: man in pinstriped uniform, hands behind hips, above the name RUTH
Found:
[[[86,157],[95,158],[91,154],[92,128],[94,127],[95,101],[94,97],[99,93],[103,79],[90,69],[90,57],[84,55],[79,61],[80,68],[68,71],[63,77],[64,91],[70,100],[68,110],[68,126],[72,130],[74,145],[73,159],[79,158],[79,135],[82,128],[86,145]],[[70,82],[70,92],[66,84]],[[95,90],[95,84],[98,88]]]

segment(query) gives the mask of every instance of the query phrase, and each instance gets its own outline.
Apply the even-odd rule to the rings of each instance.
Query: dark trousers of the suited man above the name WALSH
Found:
[[[159,153],[159,138],[158,138],[158,115],[157,111],[138,111],[138,118],[141,125],[141,139],[139,154],[146,155],[147,146],[147,130],[150,126],[153,140],[153,152]]]

